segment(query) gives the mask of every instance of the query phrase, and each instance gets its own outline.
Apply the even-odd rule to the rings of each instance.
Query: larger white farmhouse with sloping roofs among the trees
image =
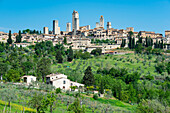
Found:
[[[77,86],[77,88],[84,87],[84,84],[70,81],[64,74],[50,74],[46,76],[46,83],[53,85],[55,88],[63,90],[71,90],[71,86]]]

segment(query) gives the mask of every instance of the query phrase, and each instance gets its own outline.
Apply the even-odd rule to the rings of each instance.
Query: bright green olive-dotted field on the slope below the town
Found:
[[[155,72],[156,59],[159,56],[148,56],[138,54],[125,54],[125,55],[102,55],[93,57],[87,60],[75,59],[71,63],[65,62],[63,64],[52,65],[53,73],[64,73],[70,79],[81,82],[84,71],[88,66],[91,66],[95,74],[99,68],[110,69],[112,67],[126,68],[129,73],[137,71],[141,77],[144,75],[159,76]]]

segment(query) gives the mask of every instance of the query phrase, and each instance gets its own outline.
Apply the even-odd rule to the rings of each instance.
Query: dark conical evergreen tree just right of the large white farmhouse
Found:
[[[83,77],[83,83],[86,86],[92,86],[94,85],[94,75],[92,73],[91,67],[88,66],[87,69],[85,70],[84,77]]]

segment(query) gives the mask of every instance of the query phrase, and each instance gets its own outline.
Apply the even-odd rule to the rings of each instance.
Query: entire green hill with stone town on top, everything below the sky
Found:
[[[0,112],[170,113],[170,30],[104,23],[0,32]]]

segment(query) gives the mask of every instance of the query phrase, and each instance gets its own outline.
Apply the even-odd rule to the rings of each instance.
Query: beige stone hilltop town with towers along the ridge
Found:
[[[96,22],[96,27],[94,29],[90,28],[90,25],[80,26],[79,24],[79,13],[73,11],[72,13],[72,28],[71,23],[66,24],[66,31],[60,31],[59,21],[53,21],[53,30],[49,30],[48,27],[43,28],[43,33],[39,31],[31,31],[29,29],[23,30],[21,32],[21,43],[14,43],[18,47],[26,47],[31,44],[42,41],[52,41],[55,46],[58,43],[63,43],[67,40],[67,44],[64,46],[69,48],[72,46],[73,50],[85,50],[91,52],[96,48],[101,48],[104,53],[110,49],[121,48],[121,44],[124,41],[123,47],[128,47],[129,43],[129,32],[132,32],[132,38],[134,38],[135,43],[142,37],[142,42],[146,41],[146,38],[151,38],[153,43],[162,42],[165,44],[164,49],[170,49],[170,30],[165,31],[165,35],[161,33],[155,33],[152,31],[134,31],[133,27],[127,27],[126,29],[114,29],[112,28],[111,22],[107,22],[105,29],[104,17],[101,16],[99,22]],[[13,42],[16,42],[16,36],[18,33],[12,34]],[[0,32],[0,41],[7,42],[9,33]],[[96,42],[96,43],[95,43]],[[100,42],[98,44],[97,42]],[[153,47],[154,48],[154,45]]]

